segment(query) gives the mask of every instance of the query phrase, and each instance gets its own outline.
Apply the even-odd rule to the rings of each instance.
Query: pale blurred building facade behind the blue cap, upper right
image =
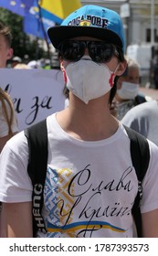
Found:
[[[121,15],[127,46],[158,43],[158,0],[81,0],[82,5],[101,5]]]

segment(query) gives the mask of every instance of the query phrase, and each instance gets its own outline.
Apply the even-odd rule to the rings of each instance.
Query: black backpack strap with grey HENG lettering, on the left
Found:
[[[32,213],[33,234],[36,237],[37,229],[46,232],[41,212],[43,207],[43,192],[47,173],[47,123],[43,120],[29,126],[25,131],[28,142],[27,172],[33,185]]]

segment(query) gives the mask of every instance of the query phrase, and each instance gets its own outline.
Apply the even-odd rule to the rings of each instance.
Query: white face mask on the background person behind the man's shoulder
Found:
[[[117,94],[123,100],[133,100],[139,92],[139,84],[122,81],[121,89],[117,90]]]

